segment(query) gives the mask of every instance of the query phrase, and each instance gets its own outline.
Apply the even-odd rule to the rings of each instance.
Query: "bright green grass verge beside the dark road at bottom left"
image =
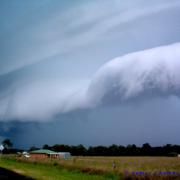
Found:
[[[117,176],[113,175],[94,175],[88,173],[82,173],[76,170],[67,170],[56,163],[37,163],[37,162],[26,162],[15,159],[14,157],[0,157],[0,167],[12,170],[18,174],[22,174],[34,179],[39,180],[110,180],[118,179]]]

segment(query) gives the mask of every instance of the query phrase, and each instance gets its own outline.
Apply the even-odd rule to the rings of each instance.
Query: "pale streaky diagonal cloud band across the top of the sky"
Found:
[[[2,58],[5,61],[1,65],[0,74],[47,60],[56,54],[72,52],[106,38],[106,33],[119,25],[180,7],[178,1],[156,2],[151,6],[141,1],[137,2],[138,6],[135,4],[129,6],[118,1],[77,4],[67,11],[53,12],[49,18],[37,20],[38,23],[34,22],[34,25],[22,24],[23,29],[18,30],[13,38],[7,38],[7,43],[13,48],[7,46],[8,55]]]

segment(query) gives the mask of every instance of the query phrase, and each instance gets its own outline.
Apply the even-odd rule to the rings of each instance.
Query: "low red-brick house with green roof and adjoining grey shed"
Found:
[[[69,158],[69,152],[54,152],[48,149],[39,149],[30,152],[31,157],[34,158]]]

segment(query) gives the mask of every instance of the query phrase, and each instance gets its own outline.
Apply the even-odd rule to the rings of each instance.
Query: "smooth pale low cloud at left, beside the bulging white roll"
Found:
[[[78,103],[82,106],[82,101],[77,99],[76,92],[87,86],[87,81],[87,79],[46,80],[18,85],[13,93],[1,99],[0,119],[48,121],[59,111],[61,113],[70,111],[75,102],[77,109]],[[82,92],[78,97],[82,98]]]

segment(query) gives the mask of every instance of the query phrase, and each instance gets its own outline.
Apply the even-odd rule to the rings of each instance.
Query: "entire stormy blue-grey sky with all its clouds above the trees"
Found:
[[[180,144],[179,0],[1,0],[0,140]]]

